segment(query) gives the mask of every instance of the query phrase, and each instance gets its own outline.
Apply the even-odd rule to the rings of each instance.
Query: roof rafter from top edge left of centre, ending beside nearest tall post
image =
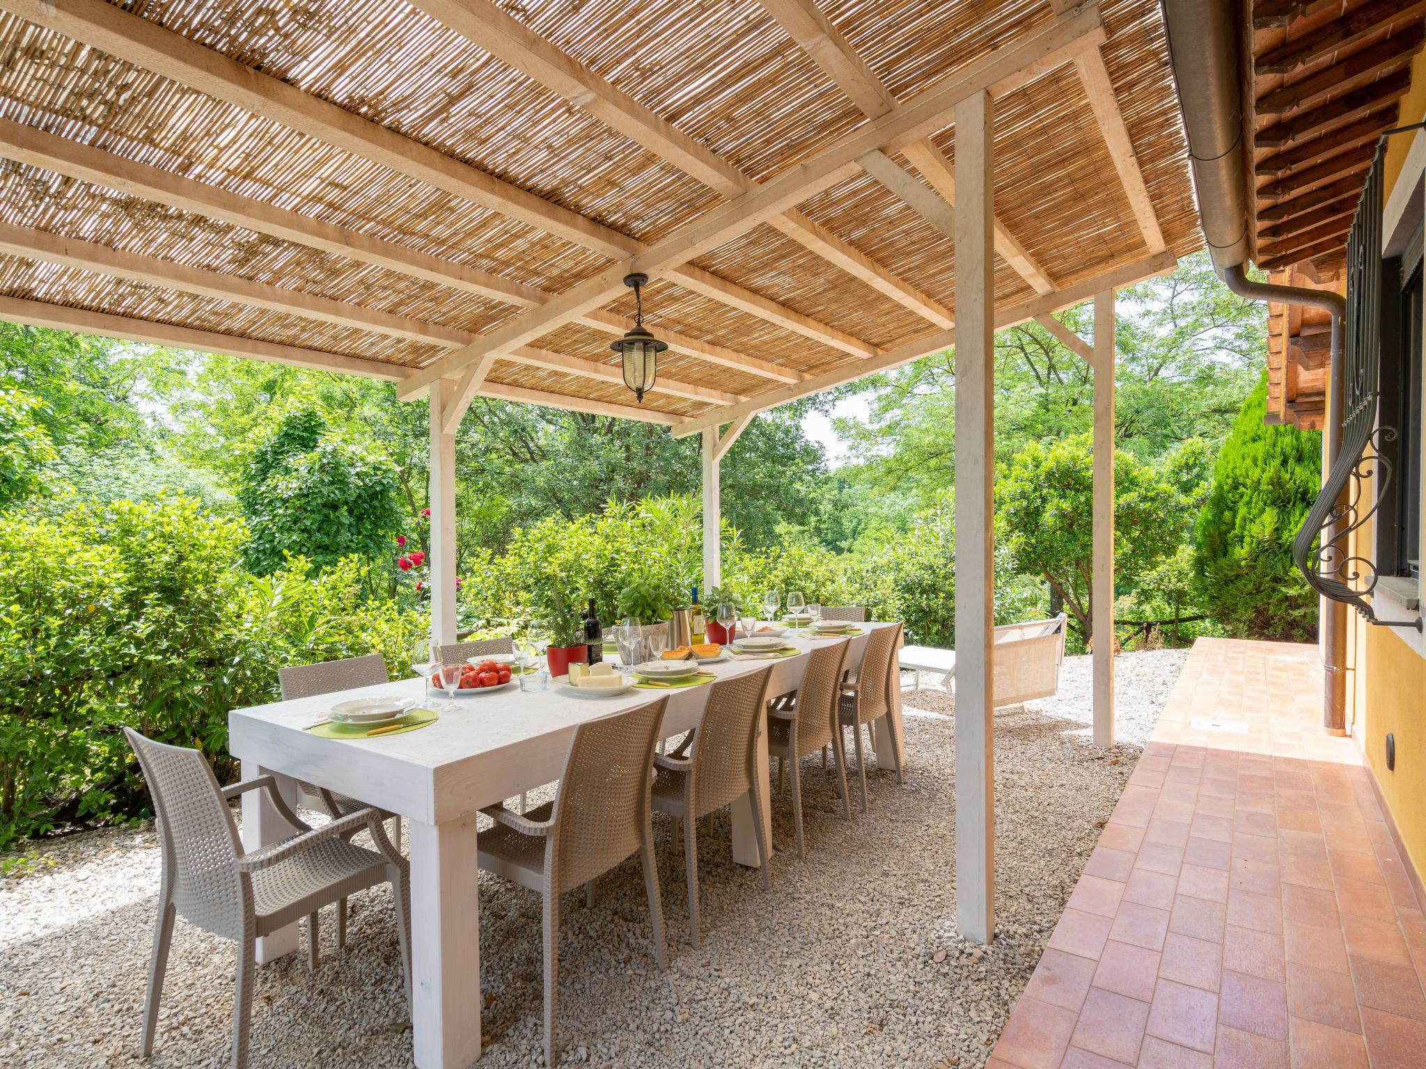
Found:
[[[729,200],[756,188],[757,184],[730,161],[556,48],[491,0],[416,0],[416,6],[508,67],[522,71]],[[771,222],[813,254],[913,312],[940,326],[948,325],[945,309],[935,301],[801,212],[789,211]]]

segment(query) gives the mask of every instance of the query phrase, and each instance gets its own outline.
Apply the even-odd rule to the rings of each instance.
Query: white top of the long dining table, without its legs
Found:
[[[857,667],[874,627],[851,639],[847,666]],[[789,636],[803,649],[826,644]],[[729,660],[706,666],[720,678],[773,666],[771,694],[797,687],[806,657]],[[458,713],[419,731],[376,738],[335,740],[305,728],[322,720],[332,703],[351,697],[395,694],[419,698],[424,680],[322,694],[238,708],[228,714],[228,747],[235,757],[299,780],[321,784],[368,804],[428,824],[453,820],[523,790],[559,778],[575,727],[610,713],[667,697],[666,735],[696,727],[710,687],[635,688],[609,698],[562,694],[550,681],[542,693],[511,688],[498,694],[451,698]]]

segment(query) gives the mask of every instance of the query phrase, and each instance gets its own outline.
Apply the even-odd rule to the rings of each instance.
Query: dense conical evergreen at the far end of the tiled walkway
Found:
[[[1318,496],[1322,435],[1268,426],[1268,378],[1243,402],[1214,465],[1194,532],[1199,600],[1229,634],[1309,639],[1318,599],[1292,562],[1292,540]]]

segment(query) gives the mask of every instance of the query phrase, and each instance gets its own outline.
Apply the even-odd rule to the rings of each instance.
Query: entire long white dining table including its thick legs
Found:
[[[857,668],[867,634],[890,624],[860,624],[850,640],[847,667]],[[804,650],[826,640],[789,636]],[[727,660],[709,666],[720,678],[773,666],[769,694],[793,691],[807,657]],[[421,698],[424,680],[409,678],[228,714],[228,747],[242,763],[242,778],[272,775],[284,797],[295,804],[298,783],[327,787],[405,817],[411,857],[412,1045],[419,1069],[465,1069],[481,1056],[481,925],[476,892],[476,812],[522,791],[559,778],[575,728],[588,720],[667,697],[663,735],[697,727],[710,686],[635,688],[606,698],[580,698],[548,690],[519,688],[453,698],[458,711],[441,714],[418,731],[375,738],[332,740],[307,728],[325,720],[334,701],[394,694]],[[900,687],[891,687],[897,740]],[[881,725],[878,724],[877,728]],[[876,730],[883,767],[893,733]],[[766,720],[760,731],[761,812],[749,795],[733,805],[733,857],[757,861],[753,820],[763,824],[771,844],[770,784]],[[242,845],[258,849],[294,834],[264,791],[242,795]],[[297,925],[258,941],[258,961],[270,962],[298,946]]]

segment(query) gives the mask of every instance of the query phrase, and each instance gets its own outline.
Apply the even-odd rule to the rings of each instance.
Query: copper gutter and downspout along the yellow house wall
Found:
[[[1330,382],[1328,388],[1326,479],[1342,442],[1342,341],[1346,299],[1325,289],[1255,282],[1248,262],[1248,161],[1243,153],[1239,31],[1242,11],[1233,0],[1161,0],[1168,31],[1169,63],[1184,115],[1194,171],[1194,191],[1214,271],[1239,296],[1276,304],[1325,308],[1332,315]],[[1323,533],[1330,537],[1333,529]],[[1322,724],[1333,734],[1346,728],[1346,606],[1328,601],[1320,610],[1323,707]]]

